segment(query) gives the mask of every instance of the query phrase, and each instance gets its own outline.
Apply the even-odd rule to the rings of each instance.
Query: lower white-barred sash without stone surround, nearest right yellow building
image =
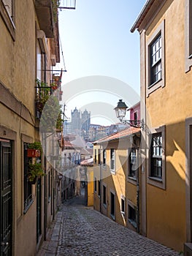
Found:
[[[162,178],[162,135],[152,136],[150,148],[150,176]]]

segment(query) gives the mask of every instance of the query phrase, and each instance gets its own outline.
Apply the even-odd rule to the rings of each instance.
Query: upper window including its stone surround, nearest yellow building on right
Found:
[[[154,33],[147,39],[147,73],[146,93],[150,93],[164,87],[164,20]]]

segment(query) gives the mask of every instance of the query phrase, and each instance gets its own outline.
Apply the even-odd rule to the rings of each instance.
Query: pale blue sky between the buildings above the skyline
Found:
[[[139,33],[131,33],[130,29],[144,4],[145,0],[76,0],[75,10],[58,11],[63,52],[58,66],[63,69],[66,67],[67,70],[62,77],[63,95],[65,91],[72,92],[62,102],[66,104],[69,117],[75,107],[83,111],[87,105],[90,107],[91,102],[104,101],[101,100],[102,90],[99,89],[96,94],[93,86],[85,86],[86,89],[82,86],[82,90],[76,91],[74,81],[82,79],[83,82],[85,77],[94,79],[96,76],[107,76],[118,79],[139,95]],[[107,104],[112,107],[117,105],[120,97],[126,104],[128,97],[131,97],[126,97],[126,86],[117,87],[121,91],[116,98],[114,89],[104,94]],[[94,120],[94,123],[96,121],[99,122],[99,119]],[[101,122],[104,124],[104,119]]]

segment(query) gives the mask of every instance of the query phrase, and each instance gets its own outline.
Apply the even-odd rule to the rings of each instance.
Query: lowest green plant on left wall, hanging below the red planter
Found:
[[[44,171],[42,170],[42,164],[34,162],[29,163],[28,165],[28,181],[31,184],[35,184],[37,181],[37,178],[45,176]]]

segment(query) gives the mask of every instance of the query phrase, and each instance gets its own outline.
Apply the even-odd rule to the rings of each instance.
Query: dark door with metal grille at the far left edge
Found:
[[[12,147],[0,139],[0,229],[1,256],[12,255]]]

